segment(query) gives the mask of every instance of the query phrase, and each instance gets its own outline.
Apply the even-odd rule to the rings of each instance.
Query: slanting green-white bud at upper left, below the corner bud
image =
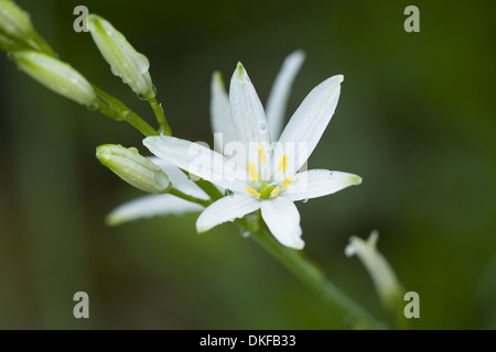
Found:
[[[32,51],[17,52],[12,58],[20,70],[45,87],[80,105],[95,107],[91,85],[71,65]]]

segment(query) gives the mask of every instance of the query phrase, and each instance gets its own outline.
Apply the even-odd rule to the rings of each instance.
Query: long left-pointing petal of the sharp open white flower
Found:
[[[145,138],[143,144],[154,155],[179,168],[224,188],[246,193],[249,182],[246,168],[229,163],[224,155],[217,152],[197,143],[168,135]],[[227,167],[227,165],[233,167]]]

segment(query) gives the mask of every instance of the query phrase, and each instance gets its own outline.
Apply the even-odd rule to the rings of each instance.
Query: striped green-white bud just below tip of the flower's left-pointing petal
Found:
[[[97,146],[96,157],[129,185],[153,194],[171,189],[168,175],[155,164],[138,153],[136,147],[116,144]]]

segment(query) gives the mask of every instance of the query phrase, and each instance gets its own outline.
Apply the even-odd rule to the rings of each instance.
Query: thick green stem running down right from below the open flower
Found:
[[[365,308],[339,290],[323,272],[312,263],[303,252],[280,244],[263,227],[254,228],[245,219],[237,221],[240,227],[251,233],[251,238],[282,265],[292,272],[301,282],[319,294],[326,301],[339,306],[357,320],[357,327],[363,329],[384,329]]]

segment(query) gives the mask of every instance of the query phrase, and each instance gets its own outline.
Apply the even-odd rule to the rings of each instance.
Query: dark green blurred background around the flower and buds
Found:
[[[151,62],[175,133],[212,144],[209,80],[241,61],[262,102],[302,48],[288,116],[343,74],[336,114],[311,168],[356,173],[362,186],[299,204],[305,252],[384,318],[371,280],[344,248],[379,230],[379,250],[420,295],[414,329],[496,328],[495,7],[489,1],[18,0],[89,80],[152,122],[112,76],[88,33],[85,4]],[[403,9],[420,9],[406,33]],[[195,216],[108,228],[141,194],[95,158],[140,134],[46,90],[0,57],[0,328],[334,329],[346,317],[230,224],[195,233]],[[90,319],[73,317],[89,294]]]

